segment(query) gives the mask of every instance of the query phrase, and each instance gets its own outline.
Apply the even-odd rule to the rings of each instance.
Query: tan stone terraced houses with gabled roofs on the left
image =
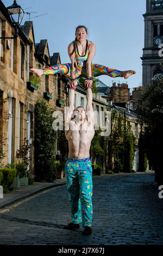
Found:
[[[0,2],[1,36],[14,35],[10,17]],[[34,173],[34,107],[45,98],[53,109],[64,112],[66,82],[58,75],[42,76],[39,88],[30,87],[30,68],[43,69],[59,63],[59,54],[51,57],[47,40],[35,43],[33,22],[26,21],[15,39],[1,39],[0,60],[0,135],[5,157],[3,166],[15,162],[16,151],[28,139],[30,171]],[[55,58],[54,58],[55,55]]]

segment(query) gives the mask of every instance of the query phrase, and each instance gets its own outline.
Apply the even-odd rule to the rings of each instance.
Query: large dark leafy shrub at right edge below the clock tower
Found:
[[[155,171],[158,185],[163,184],[162,172],[162,129],[163,129],[163,75],[157,74],[152,83],[143,89],[138,114],[143,129],[143,148],[149,161],[149,168]],[[144,160],[143,160],[144,161]],[[147,161],[145,160],[145,164]],[[144,163],[144,162],[143,162]],[[145,166],[146,167],[146,166]]]

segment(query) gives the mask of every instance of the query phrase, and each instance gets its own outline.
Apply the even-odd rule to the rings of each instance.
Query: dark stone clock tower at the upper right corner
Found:
[[[142,59],[142,83],[147,86],[156,74],[163,74],[159,57],[160,44],[163,44],[163,1],[146,0],[147,10],[145,18],[145,47]]]

